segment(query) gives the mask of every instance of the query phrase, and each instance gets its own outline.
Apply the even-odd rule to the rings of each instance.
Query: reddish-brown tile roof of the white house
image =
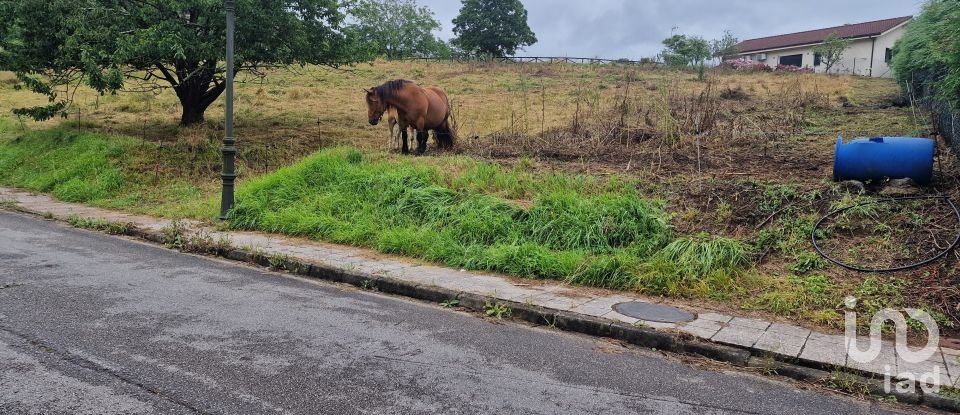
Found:
[[[809,30],[806,32],[790,33],[786,35],[762,37],[740,42],[737,50],[740,53],[756,52],[759,50],[780,49],[790,46],[810,45],[823,42],[831,33],[836,33],[845,39],[877,36],[900,24],[912,19],[913,16],[896,17],[893,19],[877,20],[874,22],[848,24],[826,29]]]

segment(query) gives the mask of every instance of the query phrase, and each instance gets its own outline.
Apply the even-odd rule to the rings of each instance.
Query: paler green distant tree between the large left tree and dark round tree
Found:
[[[360,37],[381,56],[449,55],[449,46],[433,34],[440,22],[415,0],[360,0],[351,14]]]

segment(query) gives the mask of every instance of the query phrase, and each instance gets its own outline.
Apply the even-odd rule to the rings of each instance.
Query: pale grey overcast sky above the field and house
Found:
[[[453,36],[457,0],[418,0]],[[527,56],[631,58],[656,55],[678,33],[740,40],[916,14],[921,0],[523,0],[539,42]]]

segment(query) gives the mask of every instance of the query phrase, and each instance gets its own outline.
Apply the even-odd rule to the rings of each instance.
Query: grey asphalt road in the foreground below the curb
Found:
[[[3,414],[893,409],[2,211],[0,287]]]

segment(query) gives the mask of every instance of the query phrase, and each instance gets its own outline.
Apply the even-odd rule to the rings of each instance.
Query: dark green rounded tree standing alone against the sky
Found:
[[[520,0],[463,0],[453,33],[454,46],[476,55],[509,56],[537,43]]]

